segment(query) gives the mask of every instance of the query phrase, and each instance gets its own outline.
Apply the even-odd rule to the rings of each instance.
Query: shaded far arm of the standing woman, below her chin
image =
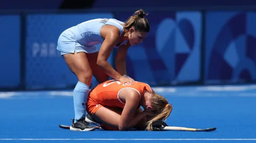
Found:
[[[121,75],[124,75],[124,74],[127,75],[125,58],[126,58],[127,50],[129,49],[129,47],[130,47],[129,42],[127,45],[121,45],[118,48],[118,53],[117,53],[117,56],[115,57],[115,67],[117,68],[117,71]]]

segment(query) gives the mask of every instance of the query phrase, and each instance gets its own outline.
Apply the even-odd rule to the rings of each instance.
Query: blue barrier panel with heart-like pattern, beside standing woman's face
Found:
[[[132,12],[119,14],[125,21]],[[143,43],[130,47],[127,73],[151,85],[169,85],[200,80],[200,12],[152,12],[150,32]]]

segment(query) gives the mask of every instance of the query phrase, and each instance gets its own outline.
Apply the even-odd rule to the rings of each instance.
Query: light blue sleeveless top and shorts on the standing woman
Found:
[[[98,51],[96,44],[103,43],[104,39],[100,35],[100,29],[103,25],[114,25],[120,30],[120,36],[123,33],[122,21],[117,19],[92,19],[75,25],[61,33],[57,50],[61,54],[86,52],[95,53]],[[121,45],[126,44],[124,41]],[[120,45],[119,45],[120,46]]]

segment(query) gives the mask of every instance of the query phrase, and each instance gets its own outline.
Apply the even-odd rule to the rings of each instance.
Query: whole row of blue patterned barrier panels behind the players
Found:
[[[114,17],[125,21],[133,12],[29,14],[26,47],[20,46],[20,17],[0,16],[0,32],[4,33],[0,38],[0,88],[73,87],[77,78],[56,50],[59,35],[86,20]],[[152,86],[255,82],[255,17],[254,11],[207,11],[205,17],[200,11],[149,12],[150,32],[143,43],[130,47],[127,73]],[[24,50],[26,56],[21,59]],[[112,56],[108,61],[114,66]],[[97,84],[94,78],[92,84]]]

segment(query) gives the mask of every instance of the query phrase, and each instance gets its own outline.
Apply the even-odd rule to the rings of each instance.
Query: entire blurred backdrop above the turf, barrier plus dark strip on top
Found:
[[[56,50],[59,35],[90,19],[125,21],[138,9],[148,13],[150,32],[129,49],[133,79],[152,86],[254,83],[255,8],[256,1],[238,0],[1,1],[0,90],[73,89],[77,78]]]

